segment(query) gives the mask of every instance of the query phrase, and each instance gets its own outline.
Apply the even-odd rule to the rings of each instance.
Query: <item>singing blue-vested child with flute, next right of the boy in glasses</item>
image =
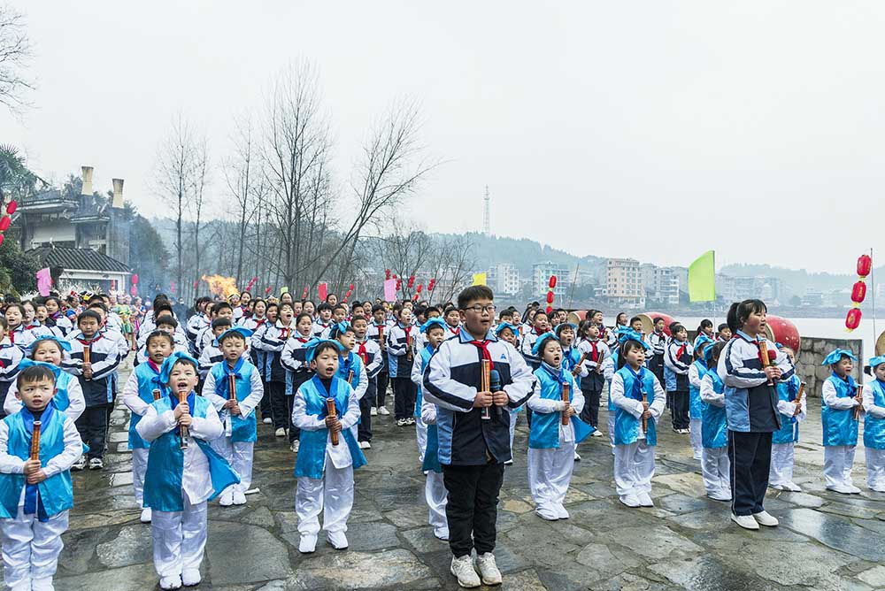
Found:
[[[584,396],[566,369],[556,334],[538,337],[532,353],[541,359],[541,367],[535,370],[535,388],[527,402],[534,413],[528,434],[528,487],[538,517],[556,521],[569,517],[563,503],[572,480],[574,449],[591,427],[577,416]]]

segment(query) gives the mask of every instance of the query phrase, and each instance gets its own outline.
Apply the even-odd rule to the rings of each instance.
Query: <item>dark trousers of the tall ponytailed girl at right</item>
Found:
[[[731,510],[752,515],[765,510],[768,470],[772,463],[772,434],[728,431]]]

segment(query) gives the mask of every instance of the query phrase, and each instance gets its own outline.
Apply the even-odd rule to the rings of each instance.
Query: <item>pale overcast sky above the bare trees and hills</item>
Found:
[[[145,214],[178,112],[225,157],[293,61],[319,68],[342,186],[367,128],[415,97],[446,160],[432,231],[577,255],[851,272],[881,235],[885,3],[25,2],[38,89],[0,142],[46,178],[88,164]],[[215,175],[215,188],[223,182]],[[885,252],[885,249],[881,250]]]

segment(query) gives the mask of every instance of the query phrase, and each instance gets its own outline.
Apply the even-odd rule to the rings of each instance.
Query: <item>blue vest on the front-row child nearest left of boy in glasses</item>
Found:
[[[350,392],[352,388],[347,380],[342,380],[337,376],[332,378],[330,386],[331,397],[335,398],[335,412],[339,420],[347,411],[347,404],[350,401]],[[310,380],[304,382],[298,391],[304,395],[306,403],[305,412],[312,417],[326,418],[328,412],[326,410],[326,399],[329,395],[326,387],[317,376],[313,376]],[[357,440],[353,438],[351,429],[342,429],[339,434],[338,445],[344,443],[350,450],[350,459],[353,462],[353,469],[356,470],[366,464],[366,457],[359,449]],[[298,448],[298,458],[295,463],[295,476],[306,476],[319,480],[323,477],[323,468],[326,464],[326,443],[328,441],[328,429],[324,426],[316,431],[301,431],[301,447]]]

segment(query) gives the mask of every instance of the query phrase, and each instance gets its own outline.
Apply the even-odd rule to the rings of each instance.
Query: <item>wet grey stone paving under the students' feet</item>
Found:
[[[517,429],[516,463],[507,469],[498,513],[496,556],[504,589],[827,589],[885,588],[885,495],[823,490],[820,410],[811,401],[797,449],[804,493],[770,491],[766,507],[781,526],[745,532],[727,503],[703,494],[687,436],[663,430],[653,509],[630,510],[612,486],[607,439],[586,441],[566,506],[572,518],[535,516],[527,488],[527,431]],[[665,415],[668,420],[668,415]],[[150,526],[138,522],[132,496],[127,413],[114,413],[104,472],[74,476],[76,507],[65,534],[57,588],[127,591],[158,588],[150,562]],[[260,426],[254,487],[243,507],[209,510],[204,583],[214,591],[284,589],[455,589],[446,544],[427,526],[413,428],[376,421],[369,464],[358,470],[350,549],[320,538],[297,551],[294,455]],[[604,424],[604,419],[603,419]],[[855,482],[865,484],[858,450]]]

